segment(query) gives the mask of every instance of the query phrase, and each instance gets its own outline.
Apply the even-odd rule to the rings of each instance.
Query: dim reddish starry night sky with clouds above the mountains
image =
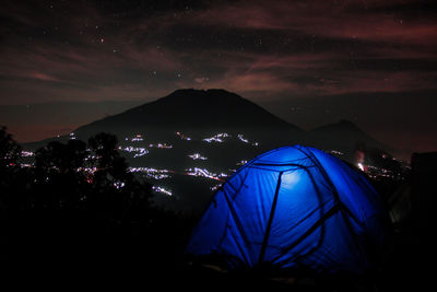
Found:
[[[222,87],[304,129],[345,118],[437,150],[436,1],[2,0],[0,22],[0,124],[19,141]]]

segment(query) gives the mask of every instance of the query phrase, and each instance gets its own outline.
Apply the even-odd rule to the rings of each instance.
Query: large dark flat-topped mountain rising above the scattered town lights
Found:
[[[271,130],[288,135],[304,131],[262,107],[225,90],[177,90],[155,102],[137,106],[121,114],[96,120],[78,128],[76,136],[91,136],[96,131],[117,135],[147,132],[163,136],[163,130],[209,135],[220,131]],[[161,137],[160,137],[161,138]]]

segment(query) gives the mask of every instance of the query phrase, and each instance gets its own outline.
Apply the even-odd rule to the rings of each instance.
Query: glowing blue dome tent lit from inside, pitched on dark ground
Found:
[[[378,195],[356,171],[294,145],[253,159],[217,190],[186,253],[227,268],[361,273],[387,233]]]

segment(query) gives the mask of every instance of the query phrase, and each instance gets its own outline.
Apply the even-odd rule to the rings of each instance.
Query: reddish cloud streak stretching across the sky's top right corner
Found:
[[[318,37],[416,45],[437,44],[433,19],[403,20],[402,15],[376,11],[383,1],[256,1],[238,2],[199,13],[196,21],[255,30],[283,30]],[[390,1],[395,3],[414,1]]]

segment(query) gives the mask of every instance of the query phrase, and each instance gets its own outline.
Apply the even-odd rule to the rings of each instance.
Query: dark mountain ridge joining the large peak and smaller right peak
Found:
[[[391,150],[357,127],[342,119],[308,131],[290,124],[261,106],[223,89],[180,89],[155,101],[134,106],[122,113],[97,119],[76,128],[73,132],[86,140],[97,132],[111,132],[119,137],[139,132],[167,139],[176,131],[201,136],[226,131],[246,132],[250,138],[264,138],[272,147],[303,143],[320,149],[351,150],[357,143]],[[167,131],[167,135],[164,132]],[[69,139],[69,136],[61,137]],[[52,139],[26,143],[40,144]],[[277,140],[277,143],[275,141]]]

